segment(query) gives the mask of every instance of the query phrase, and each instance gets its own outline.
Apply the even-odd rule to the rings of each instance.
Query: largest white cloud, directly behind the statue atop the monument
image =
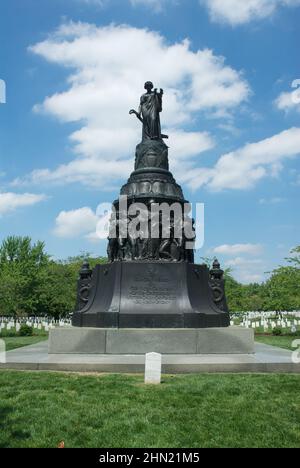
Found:
[[[212,50],[193,51],[188,40],[170,44],[155,32],[130,26],[63,24],[31,52],[69,70],[68,86],[47,97],[35,111],[60,122],[77,122],[70,135],[76,157],[33,171],[23,182],[82,182],[109,188],[133,168],[141,125],[128,115],[138,107],[148,79],[165,90],[162,126],[170,133],[170,160],[197,164],[214,141],[206,132],[190,132],[199,112],[232,113],[250,95],[242,74]]]

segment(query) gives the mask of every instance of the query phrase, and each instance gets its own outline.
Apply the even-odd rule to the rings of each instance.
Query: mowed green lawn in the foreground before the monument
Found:
[[[299,447],[300,376],[0,372],[0,447]]]

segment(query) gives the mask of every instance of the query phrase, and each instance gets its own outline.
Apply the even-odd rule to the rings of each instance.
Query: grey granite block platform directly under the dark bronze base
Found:
[[[49,334],[49,354],[141,355],[253,354],[252,329],[97,329],[56,328]]]

